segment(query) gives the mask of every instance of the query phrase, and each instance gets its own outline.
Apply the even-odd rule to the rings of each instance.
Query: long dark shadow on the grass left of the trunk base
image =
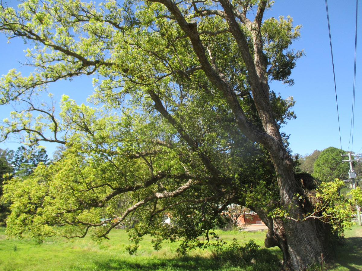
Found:
[[[260,253],[261,257],[256,257],[256,261],[249,265],[235,266],[230,262],[220,262],[214,258],[203,258],[195,256],[177,256],[171,259],[149,258],[131,260],[125,259],[107,259],[106,261],[94,261],[97,270],[130,270],[130,271],[149,271],[149,270],[247,270],[247,271],[277,271],[280,269],[280,259],[277,253]]]

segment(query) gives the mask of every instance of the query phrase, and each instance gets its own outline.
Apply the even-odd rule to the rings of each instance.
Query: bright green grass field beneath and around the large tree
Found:
[[[237,238],[240,245],[249,240],[263,246],[265,232],[218,231],[220,238],[231,244]],[[191,250],[180,256],[179,243],[165,242],[162,249],[152,248],[149,236],[140,242],[136,255],[126,251],[127,233],[114,230],[110,240],[100,244],[82,239],[63,238],[47,240],[41,245],[30,239],[8,239],[0,228],[0,270],[279,270],[282,254],[278,248],[268,249],[267,257],[260,257],[250,265],[235,266],[216,257],[212,249]],[[336,250],[336,259],[328,263],[328,270],[362,270],[362,227],[346,231],[346,246]],[[227,245],[228,246],[228,245]],[[265,251],[266,249],[264,249]],[[264,255],[264,254],[263,254]],[[314,269],[314,268],[313,268]],[[320,270],[320,268],[319,268]],[[325,270],[325,269],[324,269]]]

